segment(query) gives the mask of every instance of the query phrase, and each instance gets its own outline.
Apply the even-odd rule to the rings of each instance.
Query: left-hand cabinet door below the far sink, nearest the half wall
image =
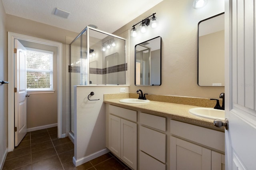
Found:
[[[120,157],[121,145],[121,132],[120,132],[120,122],[121,119],[119,117],[109,115],[109,132],[108,132],[108,143],[109,143],[109,150],[116,154],[116,156]]]

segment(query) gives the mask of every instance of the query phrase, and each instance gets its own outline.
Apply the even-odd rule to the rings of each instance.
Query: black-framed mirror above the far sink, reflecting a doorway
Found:
[[[135,85],[161,85],[162,38],[135,45]]]

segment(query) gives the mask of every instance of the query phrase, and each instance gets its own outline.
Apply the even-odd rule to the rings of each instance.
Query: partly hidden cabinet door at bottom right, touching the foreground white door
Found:
[[[225,155],[212,151],[212,170],[225,170]]]

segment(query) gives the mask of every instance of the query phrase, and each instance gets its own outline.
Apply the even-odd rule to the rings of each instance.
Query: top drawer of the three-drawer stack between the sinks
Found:
[[[158,130],[166,131],[166,118],[140,113],[140,123]]]

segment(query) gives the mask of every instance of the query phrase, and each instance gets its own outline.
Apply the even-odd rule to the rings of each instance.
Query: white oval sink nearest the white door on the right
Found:
[[[213,108],[207,108],[207,107],[196,107],[189,109],[188,111],[192,115],[196,115],[199,117],[204,117],[207,119],[225,119],[225,111],[219,110],[219,109],[213,109]]]

